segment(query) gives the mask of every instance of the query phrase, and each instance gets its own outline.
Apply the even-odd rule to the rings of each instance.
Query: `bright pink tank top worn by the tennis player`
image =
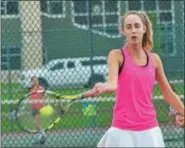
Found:
[[[151,54],[146,52],[147,65],[136,65],[128,49],[122,49],[124,65],[119,73],[112,126],[142,131],[158,126],[152,102],[155,67]]]

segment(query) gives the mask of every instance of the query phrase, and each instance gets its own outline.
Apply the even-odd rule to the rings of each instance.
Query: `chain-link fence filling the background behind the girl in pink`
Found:
[[[30,78],[44,87],[76,94],[106,81],[106,57],[121,48],[122,15],[144,10],[154,29],[154,52],[168,80],[184,101],[184,1],[10,1],[1,0],[1,143],[32,147],[37,137],[22,132],[9,118],[16,100],[28,92]],[[173,110],[154,89],[154,104],[166,147],[184,147],[184,131],[174,124]],[[93,113],[84,110],[93,105]],[[114,96],[71,107],[47,133],[45,147],[95,147],[111,125]]]

